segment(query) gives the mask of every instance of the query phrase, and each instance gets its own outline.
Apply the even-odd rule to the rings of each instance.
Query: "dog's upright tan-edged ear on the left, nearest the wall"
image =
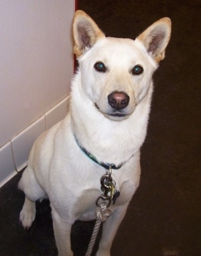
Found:
[[[91,48],[105,34],[84,11],[76,11],[72,25],[74,36],[74,54],[80,56]]]

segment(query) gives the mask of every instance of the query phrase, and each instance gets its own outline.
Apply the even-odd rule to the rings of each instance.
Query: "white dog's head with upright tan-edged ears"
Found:
[[[153,72],[165,57],[170,34],[171,21],[165,17],[135,41],[106,38],[84,11],[76,11],[73,35],[78,72],[83,93],[100,113],[112,120],[122,120],[133,113],[149,92]]]

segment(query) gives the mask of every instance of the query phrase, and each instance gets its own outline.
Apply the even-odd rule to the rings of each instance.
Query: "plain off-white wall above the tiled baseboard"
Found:
[[[12,139],[69,92],[74,5],[74,0],[0,0],[0,182],[1,174],[10,172],[3,149],[13,155]],[[15,157],[13,166],[16,170]]]

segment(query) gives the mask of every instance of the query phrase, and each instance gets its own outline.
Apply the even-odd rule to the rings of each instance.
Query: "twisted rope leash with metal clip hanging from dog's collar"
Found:
[[[113,200],[113,204],[115,204],[115,201],[120,195],[120,192],[115,188],[116,182],[112,178],[112,166],[109,166],[109,169],[106,170],[106,174],[100,178],[100,184],[103,194],[98,196],[96,200],[96,206],[98,206],[98,208],[96,208],[96,223],[85,256],[90,256],[92,253],[101,222],[107,220],[112,214],[112,211],[109,209],[111,200]]]

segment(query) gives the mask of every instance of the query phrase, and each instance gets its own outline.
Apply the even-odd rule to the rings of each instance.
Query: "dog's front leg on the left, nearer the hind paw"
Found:
[[[73,256],[70,245],[72,224],[62,219],[54,207],[52,207],[52,220],[58,256]]]

